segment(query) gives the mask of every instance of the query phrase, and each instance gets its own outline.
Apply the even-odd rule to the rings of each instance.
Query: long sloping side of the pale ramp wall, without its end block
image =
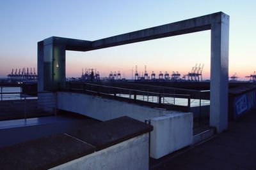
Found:
[[[177,111],[149,108],[147,106],[72,92],[58,92],[57,96],[59,109],[73,111],[102,121],[128,116],[145,122],[147,118],[177,113]]]

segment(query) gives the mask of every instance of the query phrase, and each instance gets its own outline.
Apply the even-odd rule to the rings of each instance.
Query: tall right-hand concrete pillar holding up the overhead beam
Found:
[[[228,33],[225,13],[211,25],[211,105],[210,125],[218,132],[228,127]]]

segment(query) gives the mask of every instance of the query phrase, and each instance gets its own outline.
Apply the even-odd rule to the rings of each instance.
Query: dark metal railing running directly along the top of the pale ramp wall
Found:
[[[95,96],[109,97],[120,101],[138,103],[157,108],[176,109],[189,111],[189,94],[170,94],[154,92],[152,90],[134,90],[121,87],[111,87],[106,85],[96,85],[93,83],[68,83],[67,89],[74,92],[85,92]]]

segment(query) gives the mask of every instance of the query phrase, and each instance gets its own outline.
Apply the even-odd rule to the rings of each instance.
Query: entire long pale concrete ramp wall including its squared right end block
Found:
[[[58,92],[57,96],[59,109],[99,120],[124,115],[141,122],[150,120],[154,126],[154,131],[150,133],[150,156],[154,159],[191,145],[193,141],[193,113],[160,110],[72,92]]]

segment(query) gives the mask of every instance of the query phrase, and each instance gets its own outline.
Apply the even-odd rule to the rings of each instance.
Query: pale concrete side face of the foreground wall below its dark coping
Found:
[[[148,169],[148,133],[52,169]]]

